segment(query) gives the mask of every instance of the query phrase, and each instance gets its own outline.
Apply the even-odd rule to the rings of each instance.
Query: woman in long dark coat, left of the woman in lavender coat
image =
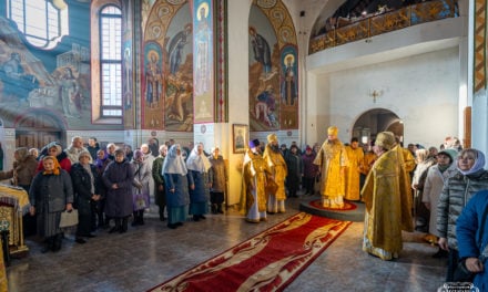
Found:
[[[106,166],[102,177],[108,189],[105,215],[115,220],[115,227],[110,232],[124,233],[128,231],[128,219],[132,215],[134,171],[122,149],[115,150],[115,160]]]

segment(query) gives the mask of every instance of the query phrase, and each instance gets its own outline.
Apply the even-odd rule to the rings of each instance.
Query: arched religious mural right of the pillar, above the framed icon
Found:
[[[298,128],[298,54],[285,6],[255,0],[250,13],[251,131]]]

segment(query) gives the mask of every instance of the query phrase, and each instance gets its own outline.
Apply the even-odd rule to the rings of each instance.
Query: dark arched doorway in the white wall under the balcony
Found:
[[[373,108],[364,112],[354,123],[353,137],[362,145],[369,145],[380,132],[389,131],[404,140],[404,122],[397,114],[387,108]]]

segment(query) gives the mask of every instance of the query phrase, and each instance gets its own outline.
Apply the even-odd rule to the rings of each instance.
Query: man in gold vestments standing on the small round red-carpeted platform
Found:
[[[327,129],[327,139],[322,144],[314,164],[321,173],[322,206],[340,209],[344,207],[345,170],[348,166],[346,149],[337,139],[338,129],[332,126]]]

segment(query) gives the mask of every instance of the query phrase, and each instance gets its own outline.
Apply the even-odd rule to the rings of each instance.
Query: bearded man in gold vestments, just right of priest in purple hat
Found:
[[[285,178],[288,175],[286,161],[279,152],[279,144],[276,134],[267,135],[267,145],[263,154],[267,167],[274,177],[277,189],[274,194],[267,194],[267,212],[285,212]]]

